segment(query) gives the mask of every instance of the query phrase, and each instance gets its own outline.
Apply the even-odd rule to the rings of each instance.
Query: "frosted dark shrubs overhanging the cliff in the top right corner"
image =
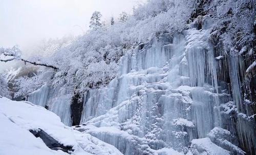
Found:
[[[205,10],[214,19],[214,37],[223,43],[226,53],[238,55],[244,46],[252,48],[255,34],[252,33],[255,18],[255,2],[251,0],[212,1]],[[218,7],[216,7],[218,6]]]

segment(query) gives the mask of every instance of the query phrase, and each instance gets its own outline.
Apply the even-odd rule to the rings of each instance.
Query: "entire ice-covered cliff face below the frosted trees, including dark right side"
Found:
[[[123,154],[255,154],[254,15],[254,1],[198,1],[184,29],[120,54],[109,84],[49,82],[28,101]]]

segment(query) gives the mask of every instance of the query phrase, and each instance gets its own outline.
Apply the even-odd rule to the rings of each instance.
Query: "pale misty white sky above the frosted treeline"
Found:
[[[0,47],[30,46],[42,38],[82,34],[92,13],[103,20],[132,12],[145,0],[0,0]]]

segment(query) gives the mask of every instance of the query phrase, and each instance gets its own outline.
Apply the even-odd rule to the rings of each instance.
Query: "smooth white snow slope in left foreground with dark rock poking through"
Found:
[[[57,115],[30,102],[16,102],[0,97],[0,154],[122,154],[114,146],[89,134],[65,126]],[[36,138],[32,131],[44,131]],[[50,137],[47,137],[47,135]],[[68,152],[50,149],[55,139]],[[52,140],[52,141],[51,141]],[[54,145],[52,146],[54,147]]]

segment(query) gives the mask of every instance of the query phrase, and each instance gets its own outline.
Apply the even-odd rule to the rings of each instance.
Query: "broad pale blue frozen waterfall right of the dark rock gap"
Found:
[[[205,138],[212,129],[229,128],[221,114],[232,96],[238,107],[242,103],[240,73],[236,72],[242,64],[235,57],[226,61],[233,67],[230,93],[221,81],[226,75],[220,75],[220,60],[208,40],[211,24],[206,18],[200,30],[192,25],[171,39],[162,34],[143,49],[127,51],[119,62],[120,76],[86,94],[81,124],[90,126],[80,130],[124,154],[131,154],[131,149],[133,154],[151,154],[166,147],[190,152],[193,139],[210,141]],[[232,134],[237,132],[233,129]],[[238,139],[223,141],[231,154],[244,153],[235,149]],[[224,147],[224,142],[209,143],[217,148]],[[196,147],[194,151],[199,151]]]

